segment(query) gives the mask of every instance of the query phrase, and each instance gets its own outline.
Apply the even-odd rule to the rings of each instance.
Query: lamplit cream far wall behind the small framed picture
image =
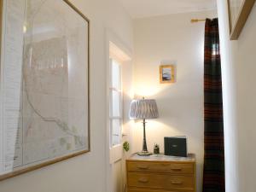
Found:
[[[160,119],[148,120],[148,149],[164,137],[187,136],[190,153],[196,154],[197,191],[201,191],[203,166],[203,45],[204,22],[192,18],[213,18],[215,11],[157,16],[135,20],[134,91],[137,96],[154,98]],[[175,61],[177,83],[160,84],[161,61]],[[172,62],[169,62],[172,64]],[[142,124],[133,129],[133,151],[142,150]]]

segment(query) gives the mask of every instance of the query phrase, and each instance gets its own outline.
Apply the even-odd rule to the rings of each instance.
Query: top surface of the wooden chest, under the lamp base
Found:
[[[188,154],[188,157],[167,156],[164,154],[151,154],[149,156],[131,154],[127,160],[195,162],[195,154]]]

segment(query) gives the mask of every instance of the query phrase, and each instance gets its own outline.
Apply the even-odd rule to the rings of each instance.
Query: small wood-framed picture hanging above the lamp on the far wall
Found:
[[[175,82],[175,66],[161,65],[160,66],[160,84],[171,84]]]

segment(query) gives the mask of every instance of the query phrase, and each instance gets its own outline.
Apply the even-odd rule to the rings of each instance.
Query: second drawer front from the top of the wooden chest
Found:
[[[148,187],[154,189],[194,189],[194,177],[169,174],[128,173],[128,187]]]

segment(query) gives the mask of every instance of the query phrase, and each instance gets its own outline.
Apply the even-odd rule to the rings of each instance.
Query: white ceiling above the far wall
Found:
[[[118,0],[132,18],[216,9],[216,0]]]

